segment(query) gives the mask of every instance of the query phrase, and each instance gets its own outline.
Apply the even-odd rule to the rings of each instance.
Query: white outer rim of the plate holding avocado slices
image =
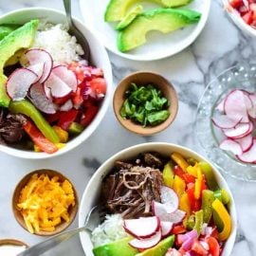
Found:
[[[116,54],[119,57],[122,57],[124,59],[128,59],[128,60],[132,60],[132,61],[137,61],[137,62],[150,62],[150,61],[156,61],[156,60],[162,60],[162,59],[166,59],[168,57],[174,56],[175,54],[181,52],[182,50],[186,49],[187,47],[191,46],[192,43],[197,39],[197,37],[201,34],[201,32],[203,31],[204,27],[207,24],[208,18],[209,18],[209,14],[210,14],[210,4],[211,4],[211,0],[208,0],[207,3],[209,2],[207,9],[204,11],[204,15],[202,15],[203,19],[202,21],[200,21],[200,23],[198,23],[197,27],[195,27],[195,32],[194,35],[192,37],[192,39],[187,42],[187,44],[185,44],[182,47],[179,47],[176,51],[174,51],[173,53],[170,54],[162,54],[158,57],[141,57],[142,54],[139,54],[138,56],[136,54],[131,54],[131,53],[123,53],[120,52],[118,48],[113,48],[112,46],[109,45],[105,45],[104,46],[110,50],[111,52],[113,52],[114,54]],[[80,7],[81,9],[85,9],[86,5],[85,5],[85,1],[80,0]],[[87,21],[85,14],[82,11],[82,18]],[[84,23],[88,26],[91,26],[91,22],[88,21],[88,23]],[[101,39],[101,33],[97,32],[96,33],[97,37]]]

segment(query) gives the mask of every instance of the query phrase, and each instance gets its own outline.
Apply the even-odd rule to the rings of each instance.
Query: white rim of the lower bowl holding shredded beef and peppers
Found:
[[[156,148],[165,148],[169,149],[170,151],[180,151],[183,153],[186,153],[186,155],[192,155],[193,157],[195,157],[196,159],[200,159],[202,161],[206,161],[208,163],[210,163],[210,167],[213,170],[215,177],[218,179],[218,183],[221,184],[221,186],[223,188],[225,188],[230,195],[231,198],[231,205],[229,207],[229,213],[232,219],[232,231],[231,234],[229,236],[228,242],[228,247],[226,247],[226,249],[224,250],[225,254],[222,254],[223,256],[229,256],[232,248],[234,246],[235,243],[235,237],[236,237],[236,232],[237,232],[237,211],[236,211],[236,207],[235,207],[235,201],[232,195],[232,192],[229,189],[229,184],[226,181],[226,179],[223,177],[223,175],[218,171],[218,168],[213,165],[210,160],[208,160],[206,157],[204,157],[203,155],[199,155],[198,153],[196,153],[195,151],[193,151],[190,148],[184,147],[184,146],[180,146],[174,143],[168,143],[168,142],[147,142],[147,143],[141,143],[141,144],[137,144],[125,149],[120,150],[118,153],[116,153],[115,155],[112,155],[110,157],[108,157],[102,164],[101,166],[97,169],[97,171],[93,174],[93,176],[91,177],[90,181],[88,182],[88,184],[86,185],[86,188],[83,191],[82,194],[82,200],[81,200],[81,204],[80,204],[80,208],[79,208],[79,227],[82,227],[84,225],[84,220],[85,220],[85,216],[87,214],[87,212],[89,211],[88,209],[88,204],[86,201],[87,200],[87,195],[91,194],[92,192],[96,191],[95,185],[94,185],[94,181],[97,180],[98,178],[103,178],[104,174],[108,174],[111,170],[111,168],[108,171],[105,171],[106,167],[108,165],[110,165],[111,163],[113,164],[113,162],[117,159],[119,159],[120,157],[124,156],[124,157],[131,157],[131,155],[137,155],[138,152],[146,152],[146,151],[150,151],[150,149],[153,151],[157,151],[155,150]],[[130,156],[125,156],[125,155],[130,155]],[[97,180],[98,182],[98,180]],[[94,190],[92,190],[92,188],[94,188]],[[90,206],[92,207],[92,206]],[[86,232],[81,232],[80,233],[80,240],[82,243],[82,248],[84,253],[87,255],[88,253],[88,239],[89,236],[86,234]],[[91,246],[91,245],[90,245]],[[87,250],[86,250],[87,249]],[[92,256],[93,254],[88,254],[88,256]]]

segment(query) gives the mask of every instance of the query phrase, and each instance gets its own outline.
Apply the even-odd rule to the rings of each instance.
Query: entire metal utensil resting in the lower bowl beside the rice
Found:
[[[83,227],[71,229],[63,233],[54,235],[42,243],[39,243],[33,247],[28,247],[25,251],[17,254],[17,256],[41,255],[50,248],[56,247],[57,245],[63,243],[64,241],[68,240],[69,238],[73,237],[81,231],[92,232],[93,229],[101,224],[104,216],[105,207],[103,205],[97,205],[88,212]]]

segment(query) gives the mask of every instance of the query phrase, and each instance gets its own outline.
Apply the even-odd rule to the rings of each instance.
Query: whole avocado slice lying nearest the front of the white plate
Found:
[[[118,48],[125,52],[146,43],[149,31],[169,33],[200,20],[201,13],[191,9],[154,9],[138,14],[133,22],[119,31]]]

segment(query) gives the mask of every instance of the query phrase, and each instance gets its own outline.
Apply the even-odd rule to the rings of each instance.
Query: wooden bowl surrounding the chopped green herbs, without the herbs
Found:
[[[135,82],[137,86],[147,85],[150,83],[154,84],[155,87],[162,92],[163,96],[171,102],[169,106],[169,111],[171,113],[170,117],[156,126],[146,127],[143,127],[141,124],[138,124],[131,119],[122,119],[119,111],[125,100],[124,93],[132,82]],[[139,71],[130,74],[119,82],[113,98],[113,108],[119,123],[124,128],[141,136],[151,136],[165,130],[174,121],[178,110],[178,99],[174,86],[171,82],[168,82],[164,77],[157,73]]]

